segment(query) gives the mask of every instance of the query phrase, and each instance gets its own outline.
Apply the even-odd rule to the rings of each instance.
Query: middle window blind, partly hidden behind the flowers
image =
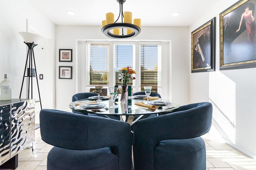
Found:
[[[120,70],[124,67],[134,69],[135,44],[114,44],[114,66],[115,66],[115,83],[121,85],[119,81]],[[132,85],[132,82],[129,83]]]

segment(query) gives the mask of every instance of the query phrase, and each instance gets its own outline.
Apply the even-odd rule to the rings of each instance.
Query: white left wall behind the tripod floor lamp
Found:
[[[37,74],[44,74],[44,80],[38,79],[42,106],[54,107],[54,52],[55,25],[36,10],[26,0],[0,0],[0,81],[8,74],[12,82],[12,98],[19,98],[22,78],[27,56],[27,46],[18,32],[34,32],[44,37],[38,46],[34,47]],[[44,47],[44,50],[41,48]],[[48,72],[50,70],[50,72]],[[36,79],[33,79],[33,85]],[[36,95],[37,89],[33,90]],[[22,90],[21,98],[26,98],[26,87]],[[50,98],[48,100],[48,98]],[[36,104],[36,123],[40,105]]]

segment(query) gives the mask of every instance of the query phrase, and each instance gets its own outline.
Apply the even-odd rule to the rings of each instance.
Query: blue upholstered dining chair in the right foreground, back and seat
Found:
[[[206,170],[202,139],[212,124],[212,104],[181,106],[134,123],[134,170]]]

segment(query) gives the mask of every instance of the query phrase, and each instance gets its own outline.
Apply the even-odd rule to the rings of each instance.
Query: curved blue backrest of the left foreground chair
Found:
[[[67,150],[92,152],[111,147],[117,152],[120,169],[131,168],[132,139],[127,122],[42,109],[40,132],[44,142]]]

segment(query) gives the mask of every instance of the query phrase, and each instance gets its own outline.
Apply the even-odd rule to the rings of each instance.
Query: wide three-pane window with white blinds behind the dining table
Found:
[[[137,72],[136,80],[130,82],[135,92],[144,91],[144,86],[152,86],[153,92],[161,88],[160,42],[93,41],[86,42],[86,46],[88,88],[98,84],[120,86],[120,70],[124,67]]]

